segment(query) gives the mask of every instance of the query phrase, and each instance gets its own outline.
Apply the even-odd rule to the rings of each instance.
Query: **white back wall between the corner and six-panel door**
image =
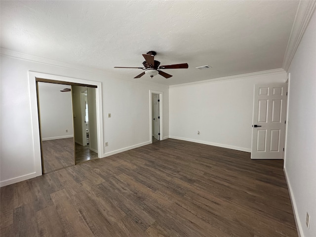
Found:
[[[170,87],[169,137],[250,152],[254,84],[286,80],[281,70],[258,75]]]

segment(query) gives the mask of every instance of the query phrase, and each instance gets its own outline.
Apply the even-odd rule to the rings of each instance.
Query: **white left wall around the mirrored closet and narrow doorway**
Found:
[[[150,90],[163,92],[163,134],[169,135],[168,87],[140,83],[137,79],[118,79],[83,67],[75,70],[46,62],[36,63],[37,57],[29,58],[32,61],[1,54],[1,186],[36,176],[38,157],[35,157],[33,142],[28,71],[102,82],[101,132],[104,141],[109,142],[105,153],[101,154],[103,157],[150,143]],[[112,114],[111,118],[107,118],[108,113]]]

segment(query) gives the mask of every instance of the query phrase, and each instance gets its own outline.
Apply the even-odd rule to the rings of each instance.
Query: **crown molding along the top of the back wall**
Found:
[[[230,77],[224,77],[224,78],[215,78],[215,79],[208,79],[208,80],[200,80],[195,82],[189,82],[189,83],[183,83],[183,84],[177,84],[177,85],[170,85],[171,87],[181,87],[181,86],[189,86],[189,85],[199,85],[199,84],[206,84],[211,82],[218,82],[218,81],[227,81],[227,80],[237,80],[237,79],[246,79],[246,78],[254,78],[254,77],[262,77],[262,76],[270,76],[280,73],[286,73],[284,69],[278,68],[278,69],[272,69],[267,71],[261,71],[256,73],[247,73],[247,74],[241,74],[236,76],[230,76]]]

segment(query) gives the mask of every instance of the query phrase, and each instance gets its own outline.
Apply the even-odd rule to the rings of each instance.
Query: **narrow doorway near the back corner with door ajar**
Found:
[[[162,140],[162,92],[150,91],[150,140]]]

